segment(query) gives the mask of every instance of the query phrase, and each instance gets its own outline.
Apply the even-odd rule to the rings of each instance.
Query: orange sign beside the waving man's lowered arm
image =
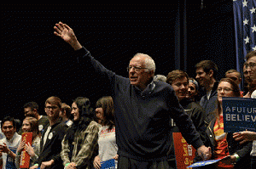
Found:
[[[193,159],[195,158],[195,148],[187,143],[181,132],[173,132],[172,137],[177,169],[187,168],[187,166],[190,166],[193,163]]]

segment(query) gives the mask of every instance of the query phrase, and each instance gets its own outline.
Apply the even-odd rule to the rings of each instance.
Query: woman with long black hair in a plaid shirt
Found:
[[[73,125],[61,142],[61,159],[67,169],[92,168],[100,125],[93,120],[90,100],[73,100]]]

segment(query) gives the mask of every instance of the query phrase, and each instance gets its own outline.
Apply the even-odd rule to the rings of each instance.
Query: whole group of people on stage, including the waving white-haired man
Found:
[[[37,103],[26,103],[20,130],[13,117],[1,119],[4,169],[19,168],[24,149],[30,155],[30,169],[99,169],[108,160],[120,169],[177,168],[172,132],[181,132],[193,145],[195,162],[230,155],[206,167],[256,167],[256,132],[224,132],[222,107],[223,97],[256,98],[255,51],[247,54],[247,90],[241,91],[240,72],[228,70],[217,81],[218,66],[211,60],[195,65],[195,79],[183,70],[155,76],[154,59],[136,54],[127,68],[129,78],[118,76],[90,55],[68,25],[59,22],[54,29],[74,49],[78,69],[98,76],[111,94],[98,99],[95,110],[85,97],[73,99],[71,106],[49,97],[46,115],[38,113]],[[22,141],[22,132],[32,132],[32,144]]]

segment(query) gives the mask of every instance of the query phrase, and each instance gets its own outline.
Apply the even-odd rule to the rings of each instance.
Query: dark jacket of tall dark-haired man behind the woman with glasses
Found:
[[[217,108],[217,87],[218,87],[218,82],[215,82],[213,87],[212,87],[212,92],[210,95],[210,99],[207,99],[207,94],[203,95],[200,100],[200,105],[202,108],[206,110],[207,115],[216,110]]]

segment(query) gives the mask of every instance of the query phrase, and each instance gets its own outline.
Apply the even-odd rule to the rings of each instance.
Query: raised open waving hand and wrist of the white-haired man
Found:
[[[82,45],[79,43],[73,32],[73,29],[70,28],[67,24],[63,24],[60,21],[58,24],[55,24],[54,29],[55,36],[61,37],[61,39],[70,44],[74,50],[79,50],[82,48]]]

